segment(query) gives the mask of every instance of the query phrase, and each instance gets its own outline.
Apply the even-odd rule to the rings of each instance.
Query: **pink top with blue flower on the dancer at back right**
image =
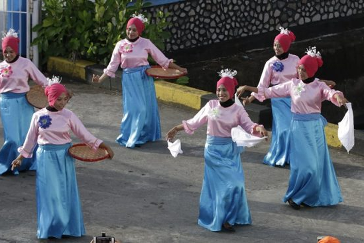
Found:
[[[283,84],[293,78],[297,78],[298,61],[299,57],[293,54],[288,54],[288,57],[283,60],[280,60],[276,56],[273,56],[265,63],[257,87],[267,88],[271,85],[274,86]],[[277,68],[275,68],[274,66],[278,67],[278,65],[281,65],[278,63],[281,63],[283,65],[283,70],[276,70]],[[260,102],[264,101],[264,97],[259,96],[259,94],[257,93],[252,92],[251,95],[253,95]]]

